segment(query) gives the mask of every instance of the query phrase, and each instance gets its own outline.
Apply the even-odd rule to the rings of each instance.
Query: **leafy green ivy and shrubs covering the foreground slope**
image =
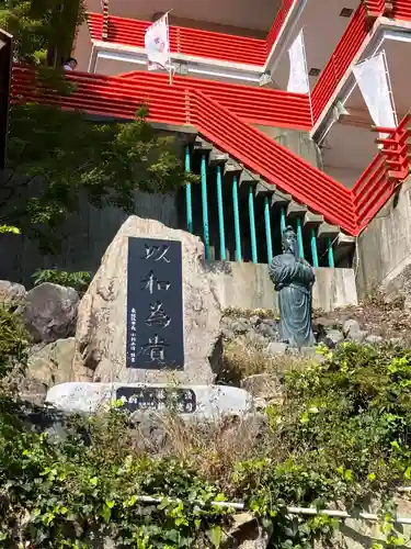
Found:
[[[249,457],[231,460],[236,429],[225,444],[225,432],[179,424],[159,453],[152,441],[141,447],[117,407],[72,418],[59,444],[1,416],[3,542],[82,548],[110,537],[140,549],[225,547],[230,516],[210,502],[238,498],[274,527],[273,548],[308,549],[338,522],[293,518],[287,506],[353,509],[377,496],[387,547],[400,545],[391,494],[411,480],[410,352],[345,344],[321,365],[290,370],[285,393],[258,442],[241,436]],[[161,503],[141,504],[140,495]]]

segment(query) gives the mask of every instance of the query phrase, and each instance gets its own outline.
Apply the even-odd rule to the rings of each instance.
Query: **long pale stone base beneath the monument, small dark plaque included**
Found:
[[[139,416],[168,407],[183,418],[215,419],[241,416],[252,410],[252,396],[243,389],[226,385],[144,383],[61,383],[47,392],[47,403],[67,413],[94,413],[102,405],[124,402],[124,408]]]

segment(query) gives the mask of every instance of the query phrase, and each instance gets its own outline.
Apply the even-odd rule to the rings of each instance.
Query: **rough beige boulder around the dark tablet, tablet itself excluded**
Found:
[[[145,236],[182,243],[183,371],[126,368],[128,237]],[[221,309],[203,257],[204,245],[198,237],[169,228],[158,221],[128,217],[81,300],[72,379],[85,381],[98,377],[103,382],[213,383],[221,366]]]

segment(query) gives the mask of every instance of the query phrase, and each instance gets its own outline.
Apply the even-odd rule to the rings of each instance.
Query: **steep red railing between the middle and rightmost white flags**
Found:
[[[317,122],[332,98],[342,77],[367,37],[368,26],[365,15],[365,7],[362,3],[352,16],[345,33],[312,91],[311,102],[315,122]]]

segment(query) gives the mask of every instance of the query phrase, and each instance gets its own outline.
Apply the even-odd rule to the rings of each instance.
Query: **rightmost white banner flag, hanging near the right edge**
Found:
[[[390,93],[385,53],[366,59],[353,67],[359,91],[376,126],[397,127],[397,115]],[[380,137],[387,137],[381,134]]]

